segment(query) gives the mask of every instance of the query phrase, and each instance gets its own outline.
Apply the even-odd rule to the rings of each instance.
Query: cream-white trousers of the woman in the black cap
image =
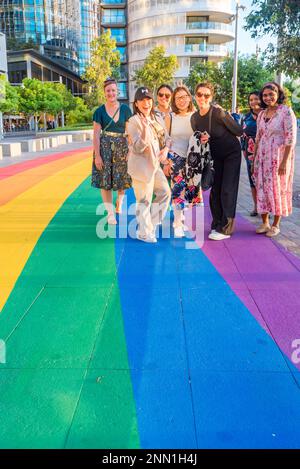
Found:
[[[136,219],[141,237],[152,235],[163,220],[171,199],[171,190],[163,170],[159,167],[149,183],[132,180],[136,198]],[[152,202],[153,195],[155,199]]]

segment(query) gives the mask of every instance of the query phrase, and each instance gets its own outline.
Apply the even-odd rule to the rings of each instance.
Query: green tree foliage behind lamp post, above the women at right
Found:
[[[187,86],[194,92],[197,83],[211,81],[215,86],[215,100],[226,109],[231,108],[232,100],[233,57],[227,57],[221,64],[202,62],[195,65],[186,80]],[[241,109],[248,107],[248,95],[259,90],[262,85],[273,79],[273,74],[263,61],[255,55],[241,55],[238,60],[237,103]]]

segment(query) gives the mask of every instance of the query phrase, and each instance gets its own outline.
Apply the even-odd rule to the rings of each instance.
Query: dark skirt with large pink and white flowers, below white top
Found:
[[[179,156],[175,152],[169,153],[173,165],[171,168],[171,200],[178,208],[183,208],[186,203],[196,205],[202,202],[200,180],[194,182],[194,178],[188,179],[189,171],[187,158]]]

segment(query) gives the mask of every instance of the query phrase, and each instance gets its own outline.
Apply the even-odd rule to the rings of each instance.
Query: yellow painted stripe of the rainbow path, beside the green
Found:
[[[0,206],[0,311],[43,231],[90,171],[84,158]]]

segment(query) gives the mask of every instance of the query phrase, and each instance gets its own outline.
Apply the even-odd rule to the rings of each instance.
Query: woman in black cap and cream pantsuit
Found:
[[[155,119],[152,93],[137,89],[128,121],[128,173],[136,197],[137,239],[156,243],[156,226],[168,209],[171,192],[160,163],[167,162],[166,130]],[[155,199],[152,202],[153,195]]]

